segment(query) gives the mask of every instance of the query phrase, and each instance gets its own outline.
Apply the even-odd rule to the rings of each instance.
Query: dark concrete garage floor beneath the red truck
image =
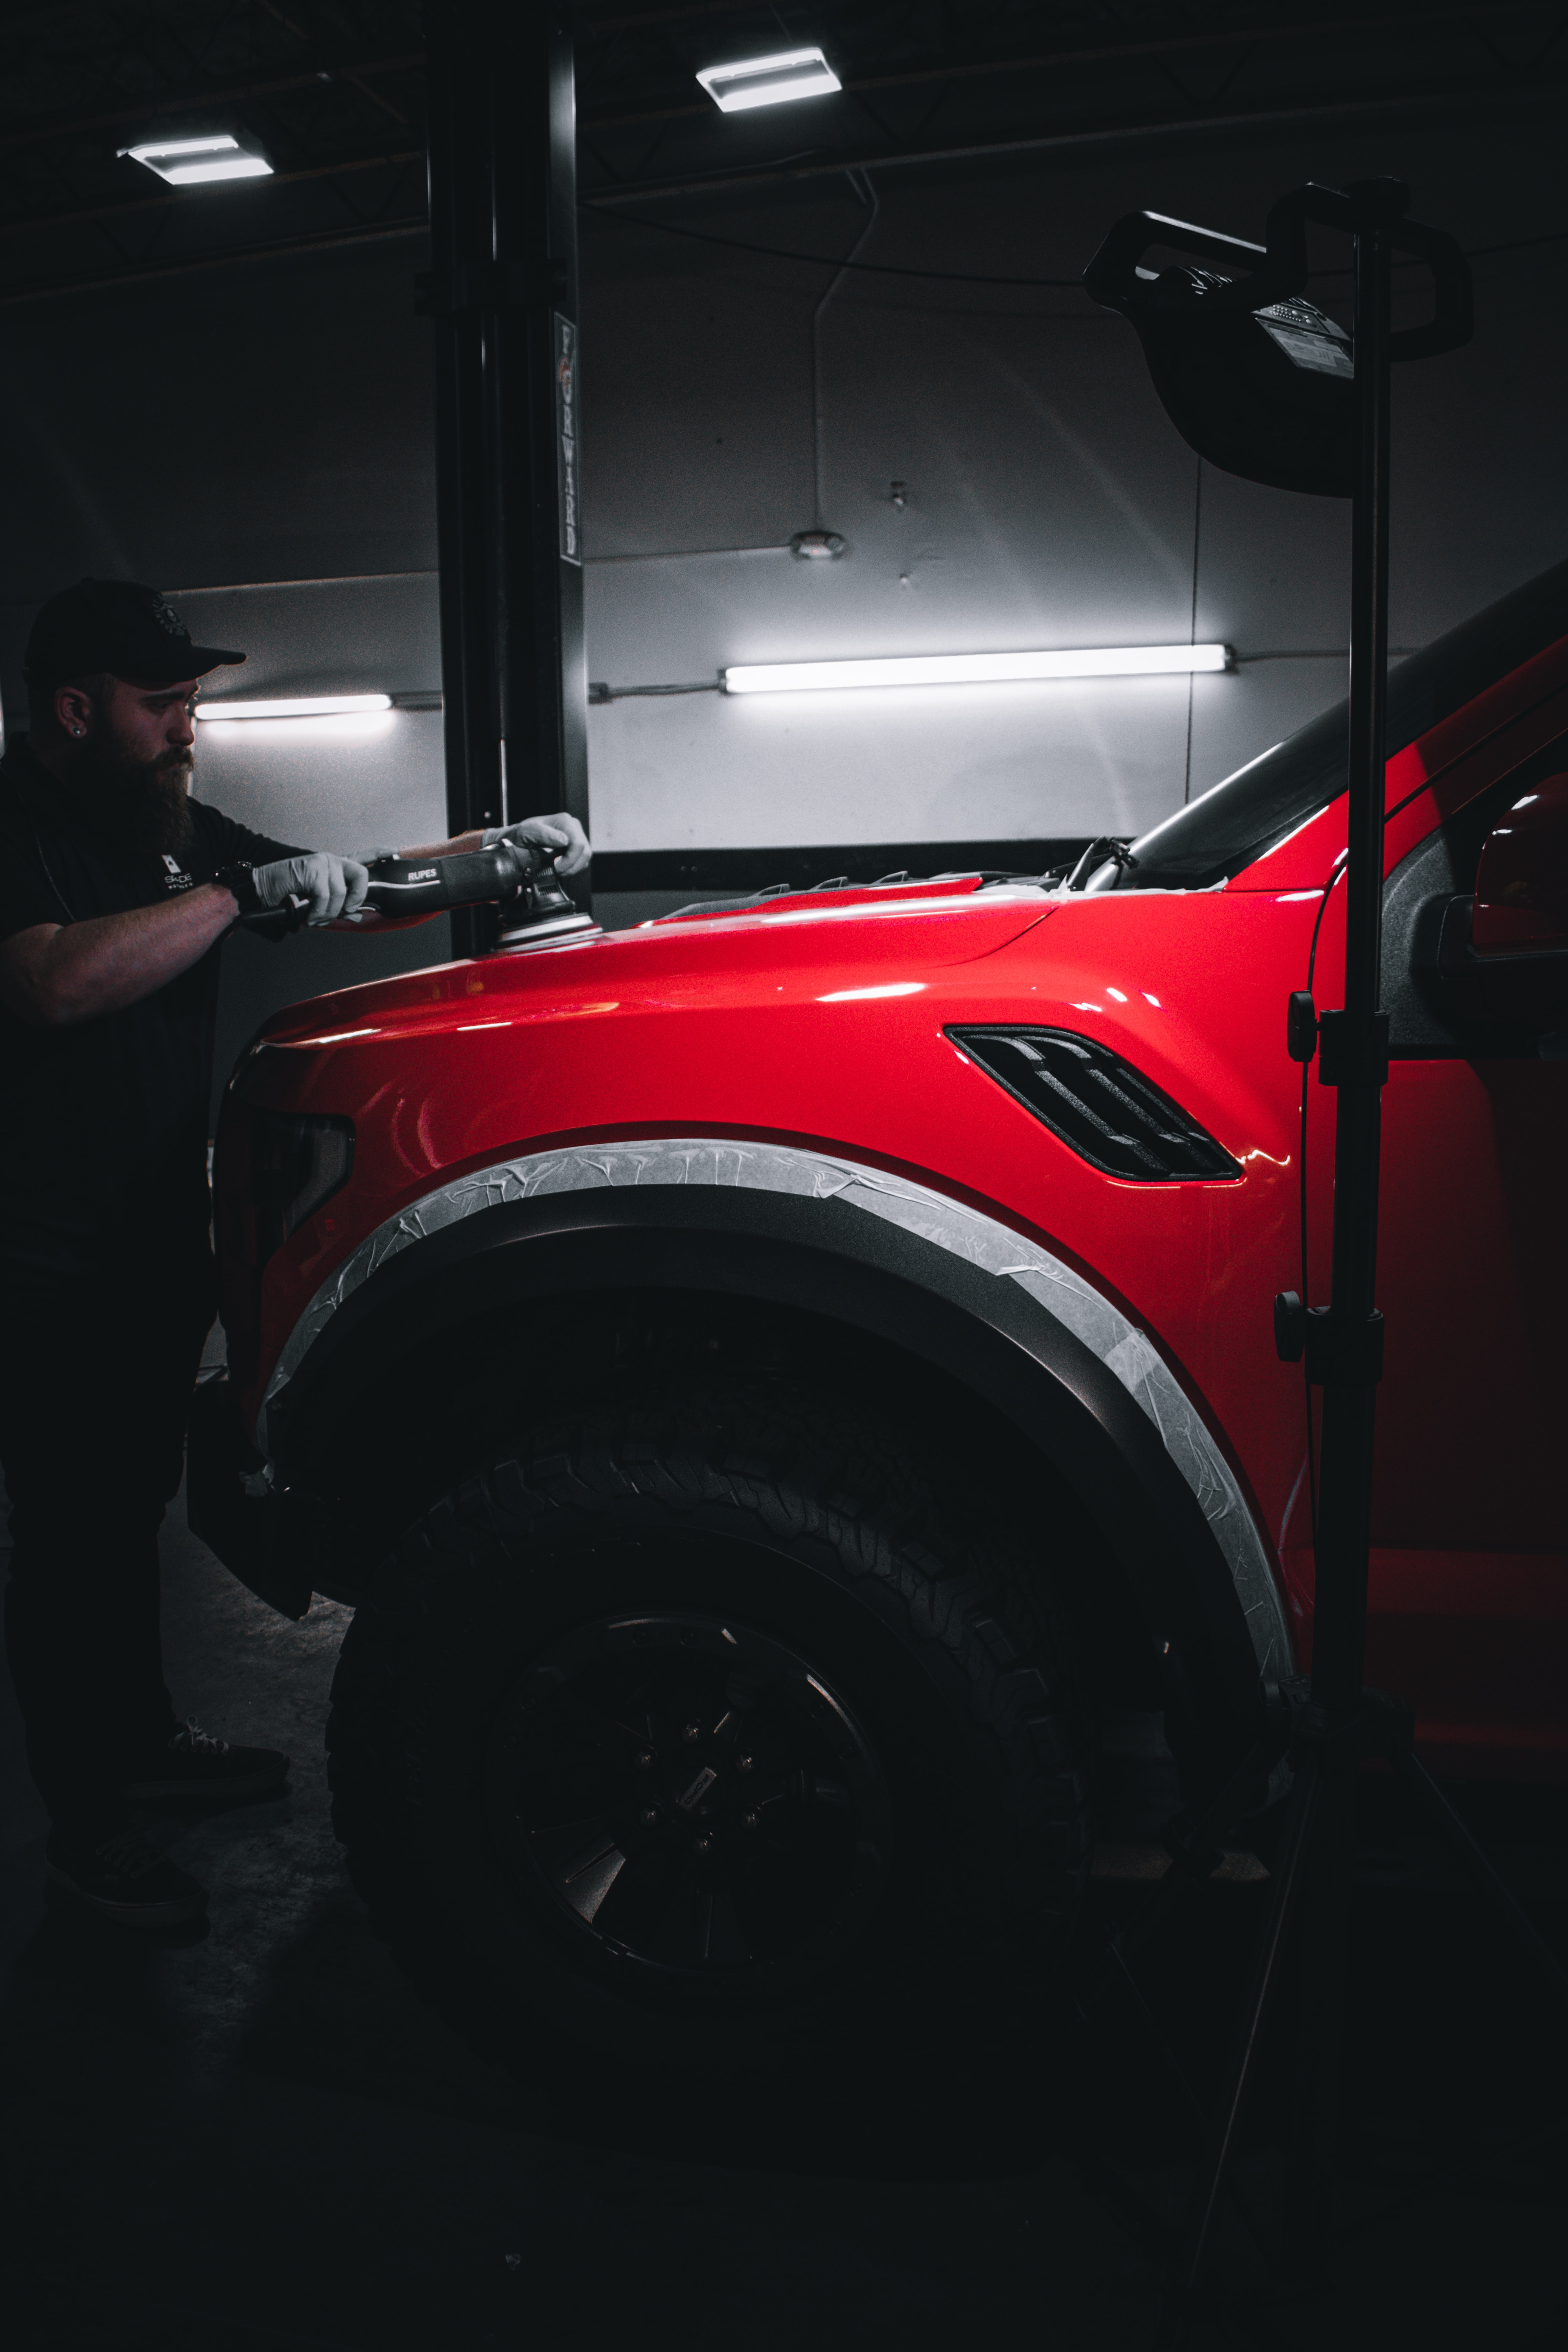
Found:
[[[186,1531],[165,1536],[176,1703],[294,1755],[287,1797],[158,1820],[212,1886],[200,1940],[150,1943],[45,1896],[45,1823],[0,1726],[0,2211],[7,2345],[49,2352],[383,2352],[1152,2343],[1161,2227],[1190,2143],[1117,2009],[1032,2079],[985,2020],[936,2018],[896,2079],[672,2100],[517,2046],[461,1964],[395,1952],[327,1818],[322,1719],[348,1611],[287,1625]],[[1138,1769],[1131,1769],[1138,1778]],[[1135,1795],[1135,1790],[1133,1790]],[[1157,1792],[1154,1792],[1157,1795]],[[1133,1797],[1124,1799],[1126,1804]],[[1568,1945],[1568,1804],[1469,1792],[1535,1917]],[[1114,1915],[1135,1891],[1095,1889]],[[1260,1891],[1206,1889],[1152,1973],[1211,2063]],[[990,2037],[987,2037],[990,2034]],[[1244,2230],[1192,2352],[1356,2340],[1563,2340],[1568,2037],[1467,1893],[1373,1790],[1349,2032],[1352,2234],[1284,2293]],[[1246,2187],[1279,2211],[1265,2072]],[[1403,2204],[1434,2159],[1495,2169]]]

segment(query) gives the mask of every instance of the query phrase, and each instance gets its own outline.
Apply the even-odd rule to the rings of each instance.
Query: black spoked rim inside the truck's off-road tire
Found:
[[[842,1971],[889,1872],[872,1743],[783,1642],[649,1611],[555,1642],[491,1726],[496,1842],[599,1966],[698,1999]]]

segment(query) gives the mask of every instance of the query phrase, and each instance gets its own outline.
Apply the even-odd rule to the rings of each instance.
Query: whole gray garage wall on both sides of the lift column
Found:
[[[703,684],[729,661],[1220,637],[1222,677],[724,699],[590,710],[604,851],[1138,830],[1342,691],[1347,513],[1199,466],[1131,329],[1072,289],[1133,205],[1260,233],[1300,179],[1401,169],[1469,247],[1568,228],[1544,139],[1509,127],[884,174],[658,207],[668,226],[886,268],[844,275],[590,212],[583,447],[590,675]],[[1394,642],[1563,553],[1563,245],[1476,261],[1472,350],[1396,381]],[[1324,252],[1324,263],[1340,256]],[[418,240],[14,308],[0,376],[0,684],[80,572],[188,590],[244,687],[437,684]],[[1319,282],[1326,299],[1347,280]],[[823,299],[827,301],[823,303]],[[813,369],[816,313],[816,369]],[[891,503],[891,482],[907,506]],[[795,532],[844,534],[837,562]],[[282,586],[306,583],[306,586]],[[440,720],[202,743],[209,797],[357,847],[442,823]],[[759,873],[759,880],[766,875]],[[607,913],[630,913],[611,896]],[[228,1030],[440,934],[233,953]]]

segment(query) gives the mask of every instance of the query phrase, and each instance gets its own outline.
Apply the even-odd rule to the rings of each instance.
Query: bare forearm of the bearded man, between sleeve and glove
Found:
[[[200,964],[240,908],[219,882],[165,906],[87,922],[38,922],[0,943],[0,1002],[33,1028],[125,1011]]]

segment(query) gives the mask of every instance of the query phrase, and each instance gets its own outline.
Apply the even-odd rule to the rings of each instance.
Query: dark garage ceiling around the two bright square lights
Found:
[[[517,0],[510,0],[517,5]],[[418,0],[0,0],[0,301],[423,221]],[[1561,106],[1568,7],[1483,0],[816,0],[578,24],[581,195],[780,186],[1001,153]],[[722,115],[703,64],[816,40],[844,89]],[[275,174],[169,188],[118,151],[259,139]]]

